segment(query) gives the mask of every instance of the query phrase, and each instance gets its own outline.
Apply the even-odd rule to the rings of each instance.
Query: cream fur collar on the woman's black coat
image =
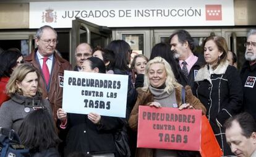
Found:
[[[214,71],[213,74],[225,74],[228,68],[228,61],[221,63]],[[195,81],[208,80],[211,83],[210,72],[208,70],[208,66],[205,65],[201,69],[198,70],[197,76],[195,77]]]

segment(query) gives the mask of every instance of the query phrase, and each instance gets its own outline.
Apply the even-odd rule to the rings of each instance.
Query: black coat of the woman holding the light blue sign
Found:
[[[67,137],[64,155],[82,152],[90,155],[115,153],[114,133],[122,127],[118,117],[101,116],[100,124],[93,124],[85,114],[67,114]]]

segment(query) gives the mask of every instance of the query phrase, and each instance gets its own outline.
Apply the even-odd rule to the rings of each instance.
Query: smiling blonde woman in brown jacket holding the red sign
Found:
[[[155,57],[149,61],[145,69],[144,86],[137,89],[137,101],[130,113],[130,128],[137,131],[140,105],[156,108],[202,109],[203,114],[205,114],[205,107],[192,94],[192,90],[189,86],[185,88],[187,103],[182,104],[182,88],[182,85],[177,83],[171,66],[167,61],[162,57]],[[135,156],[153,157],[178,155],[176,150],[137,148]]]

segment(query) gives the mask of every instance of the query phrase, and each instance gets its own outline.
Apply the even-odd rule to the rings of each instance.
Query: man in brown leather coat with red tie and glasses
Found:
[[[48,98],[51,103],[54,119],[57,120],[56,111],[62,106],[62,83],[64,70],[71,70],[68,61],[62,59],[55,48],[58,43],[56,31],[45,25],[36,32],[35,43],[38,48],[25,57],[25,62],[30,62],[41,73],[40,87],[43,98]]]

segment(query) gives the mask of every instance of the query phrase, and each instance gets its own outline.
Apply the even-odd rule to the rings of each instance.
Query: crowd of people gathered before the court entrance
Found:
[[[56,53],[57,43],[56,31],[45,25],[35,35],[38,48],[28,56],[15,48],[0,54],[0,127],[18,132],[31,156],[122,156],[115,144],[121,130],[132,157],[200,156],[198,151],[137,148],[139,106],[200,109],[223,156],[256,156],[256,30],[244,43],[241,72],[223,37],[205,38],[200,54],[186,30],[170,35],[169,44],[153,46],[149,59],[137,54],[130,61],[132,50],[124,40],[106,48],[80,43],[74,69]],[[64,111],[64,70],[127,75],[126,117]]]

